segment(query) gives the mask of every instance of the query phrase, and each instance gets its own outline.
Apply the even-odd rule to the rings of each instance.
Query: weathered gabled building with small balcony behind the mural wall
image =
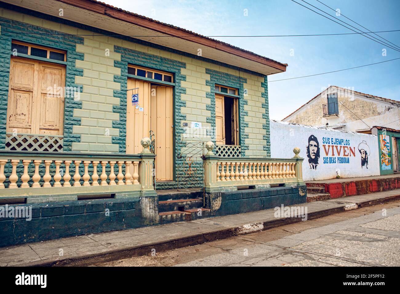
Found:
[[[371,134],[372,126],[399,129],[400,102],[330,86],[282,121]]]

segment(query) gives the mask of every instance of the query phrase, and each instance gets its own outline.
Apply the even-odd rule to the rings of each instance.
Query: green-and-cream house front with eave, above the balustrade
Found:
[[[91,12],[100,5],[187,32],[87,2]],[[33,11],[2,4],[2,47],[10,54],[1,62],[1,149],[138,154],[140,140],[152,131],[158,188],[176,188],[190,140],[213,141],[220,154],[270,156],[267,76],[286,64],[233,46],[228,48],[235,52],[222,52],[185,41],[196,48],[187,50],[178,40],[175,49],[162,44],[166,38],[155,44],[116,36],[116,20],[110,32],[83,24],[78,15],[80,23],[66,20],[73,12],[89,13],[85,8],[55,1],[60,17],[39,12],[46,9],[37,5]],[[131,34],[143,34],[143,27],[131,26]],[[208,58],[216,54],[211,51],[220,51],[230,64]]]

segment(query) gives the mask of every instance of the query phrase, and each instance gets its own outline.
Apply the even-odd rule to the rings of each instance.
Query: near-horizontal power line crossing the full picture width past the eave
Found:
[[[378,31],[378,32],[372,32],[372,33],[386,33],[386,32],[400,32],[400,30],[387,30],[387,31]],[[125,36],[125,37],[167,37],[167,38],[178,38],[178,37],[190,37],[190,38],[196,38],[196,36],[156,36],[156,35],[90,35],[90,34],[53,34],[53,33],[28,33],[28,32],[7,32],[4,31],[4,33],[15,33],[15,34],[34,34],[34,35],[52,35],[52,36],[92,36],[92,37],[102,37],[102,36],[107,36],[107,37],[120,37],[120,36]],[[308,34],[308,35],[250,35],[250,36],[245,36],[245,35],[237,35],[237,36],[204,36],[208,38],[258,38],[258,37],[308,37],[308,36],[339,36],[339,35],[356,35],[356,34],[365,34],[363,32],[355,32],[355,33],[340,33],[340,34]]]

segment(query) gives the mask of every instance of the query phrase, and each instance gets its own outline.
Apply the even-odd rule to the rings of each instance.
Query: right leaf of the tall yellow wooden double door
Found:
[[[156,138],[156,180],[173,180],[173,99],[172,87],[151,87],[150,129]]]

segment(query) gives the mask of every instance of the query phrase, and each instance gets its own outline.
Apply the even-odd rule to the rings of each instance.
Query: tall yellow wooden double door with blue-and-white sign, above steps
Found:
[[[132,91],[127,92],[126,153],[142,152],[140,141],[155,135],[156,180],[172,181],[174,154],[174,105],[173,88],[150,82],[128,79],[128,89],[139,94],[139,105],[132,106]]]

